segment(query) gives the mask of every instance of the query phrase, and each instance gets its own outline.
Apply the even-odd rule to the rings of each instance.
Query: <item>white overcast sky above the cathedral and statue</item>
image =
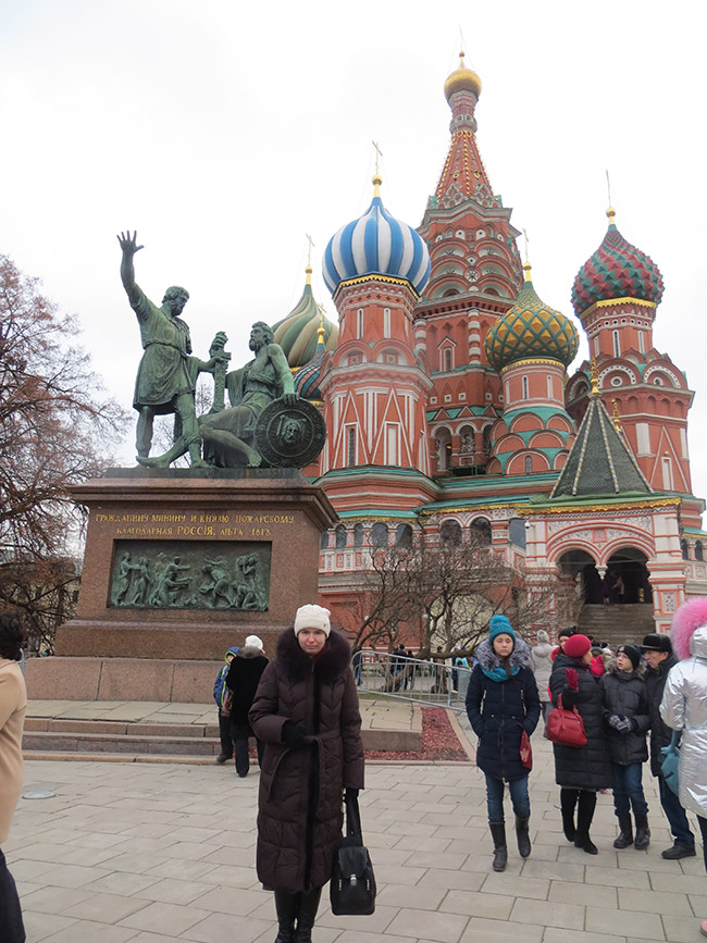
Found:
[[[419,225],[435,189],[461,28],[492,186],[528,229],[536,290],[568,315],[606,231],[609,170],[620,231],[663,275],[655,344],[697,394],[693,485],[707,495],[706,26],[704,4],[653,0],[0,0],[0,251],[78,314],[126,407],[140,347],[121,229],[145,243],[153,300],[190,291],[198,353],[222,328],[240,363],[248,326],[290,310],[306,233],[335,318],[321,255],[368,207],[371,141],[396,216]]]

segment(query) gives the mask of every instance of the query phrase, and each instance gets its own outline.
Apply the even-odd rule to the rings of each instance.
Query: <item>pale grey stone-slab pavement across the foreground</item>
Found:
[[[334,917],[323,905],[315,943],[700,940],[702,857],[660,857],[671,842],[648,771],[648,851],[613,851],[606,794],[592,831],[599,854],[591,857],[560,831],[549,744],[536,734],[533,747],[533,852],[522,861],[511,832],[501,874],[491,870],[473,766],[370,764],[361,805],[376,911]],[[272,895],[253,869],[257,768],[238,779],[231,765],[36,760],[25,780],[27,794],[55,793],[20,801],[3,847],[29,943],[274,940]]]

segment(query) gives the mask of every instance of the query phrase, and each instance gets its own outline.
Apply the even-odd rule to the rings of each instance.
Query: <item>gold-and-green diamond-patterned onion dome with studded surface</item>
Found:
[[[525,284],[516,303],[486,335],[486,358],[497,373],[517,360],[538,357],[569,367],[580,345],[576,327],[541,301],[530,280],[531,266],[525,263],[523,269]]]

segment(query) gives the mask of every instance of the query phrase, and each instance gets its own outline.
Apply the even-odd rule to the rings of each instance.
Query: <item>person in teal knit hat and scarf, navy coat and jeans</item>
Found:
[[[530,646],[517,638],[505,616],[491,620],[488,641],[476,648],[474,668],[467,692],[467,714],[479,736],[476,766],[486,777],[488,828],[494,840],[495,871],[508,860],[504,818],[504,783],[508,783],[513,811],[518,851],[531,853],[529,833],[529,769],[521,762],[522,732],[530,736],[537,725],[541,704],[535,677],[530,668]]]

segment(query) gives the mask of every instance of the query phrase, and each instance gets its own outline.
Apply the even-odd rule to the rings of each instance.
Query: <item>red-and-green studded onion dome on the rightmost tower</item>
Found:
[[[613,222],[616,212],[606,211],[609,228],[599,248],[578,272],[572,287],[572,306],[578,314],[597,301],[637,298],[658,305],[662,277],[656,263],[627,241]]]

